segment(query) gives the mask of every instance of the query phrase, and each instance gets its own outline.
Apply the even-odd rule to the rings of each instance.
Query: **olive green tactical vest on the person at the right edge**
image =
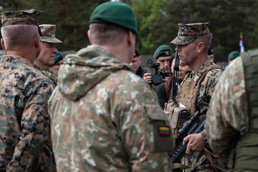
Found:
[[[258,171],[258,49],[241,53],[248,104],[249,129],[235,151],[237,171]],[[244,101],[244,100],[243,100]]]

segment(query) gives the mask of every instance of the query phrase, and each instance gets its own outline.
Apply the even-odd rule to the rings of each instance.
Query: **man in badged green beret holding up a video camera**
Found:
[[[159,46],[154,53],[154,59],[156,59],[156,62],[159,63],[158,73],[162,76],[162,83],[165,83],[169,79],[169,60],[172,54],[172,48],[168,45]],[[145,73],[143,79],[146,80],[149,84],[153,84],[152,73]]]

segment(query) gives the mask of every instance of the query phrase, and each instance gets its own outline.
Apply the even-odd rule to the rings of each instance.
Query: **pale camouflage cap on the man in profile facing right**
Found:
[[[55,25],[41,24],[39,28],[42,32],[42,36],[39,37],[39,40],[51,43],[62,43],[62,41],[55,38]]]

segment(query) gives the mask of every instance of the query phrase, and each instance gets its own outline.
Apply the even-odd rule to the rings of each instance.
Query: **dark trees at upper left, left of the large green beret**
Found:
[[[90,41],[87,36],[90,15],[101,3],[108,0],[0,0],[1,12],[37,9],[43,11],[39,24],[55,24],[56,44],[59,51],[80,50]]]

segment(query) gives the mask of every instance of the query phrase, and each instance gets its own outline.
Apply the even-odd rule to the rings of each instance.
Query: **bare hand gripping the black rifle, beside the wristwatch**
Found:
[[[187,149],[186,149],[186,155],[189,155],[190,152],[200,152],[203,150],[205,143],[203,143],[203,136],[201,134],[189,134],[184,138],[183,144],[185,144],[187,141]]]

